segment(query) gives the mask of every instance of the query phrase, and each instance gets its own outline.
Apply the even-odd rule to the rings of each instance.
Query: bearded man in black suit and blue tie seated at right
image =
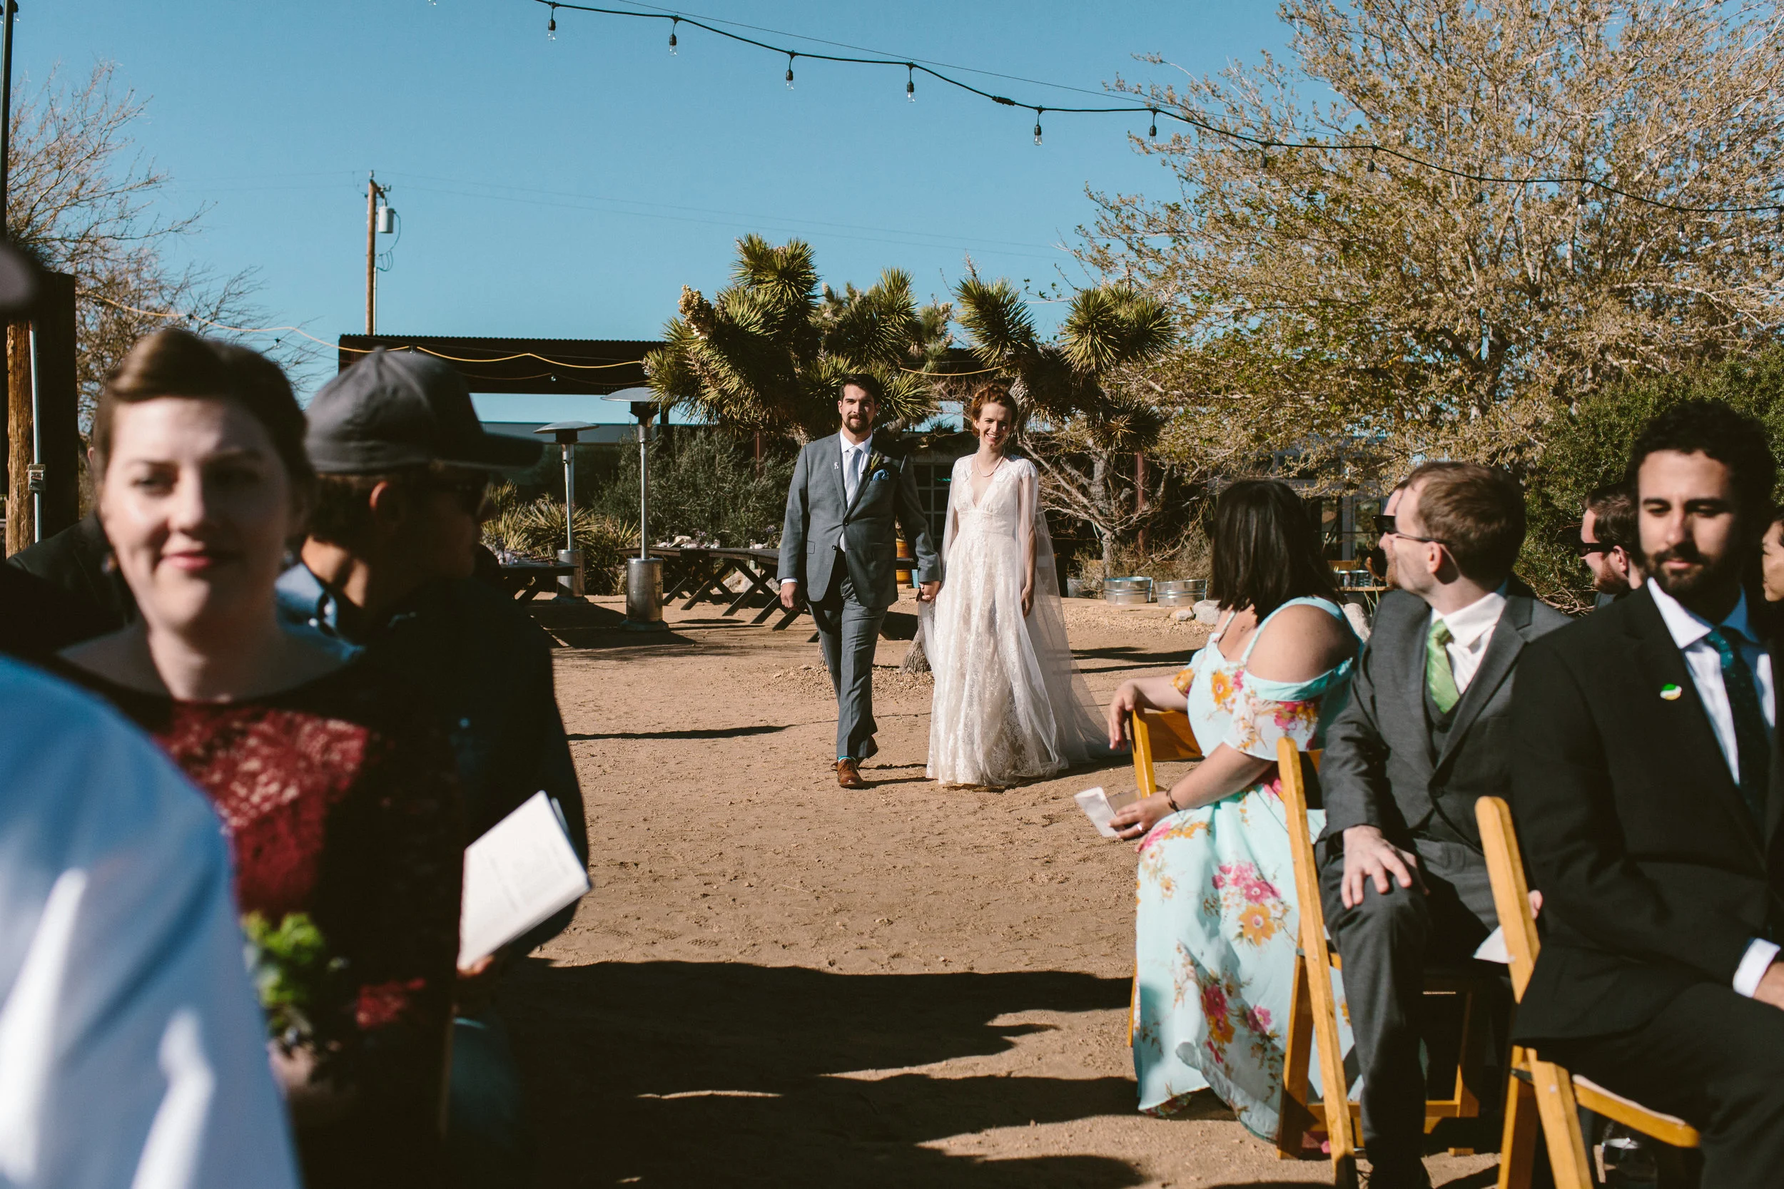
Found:
[[[1513,811],[1547,934],[1513,1039],[1704,1136],[1704,1184],[1784,1168],[1784,788],[1773,656],[1743,578],[1770,519],[1764,428],[1656,415],[1629,460],[1631,597],[1532,647]]]

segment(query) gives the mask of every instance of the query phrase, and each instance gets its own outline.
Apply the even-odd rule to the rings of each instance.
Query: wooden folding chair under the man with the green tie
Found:
[[[1343,1050],[1338,1046],[1338,1004],[1331,984],[1331,972],[1342,972],[1343,964],[1326,939],[1326,913],[1320,907],[1320,877],[1313,859],[1313,834],[1308,829],[1308,788],[1301,752],[1290,740],[1279,740],[1276,752],[1277,772],[1283,777],[1283,813],[1288,816],[1288,841],[1295,859],[1295,898],[1301,904],[1301,945],[1295,950],[1295,980],[1290,993],[1276,1150],[1284,1160],[1302,1159],[1302,1136],[1324,1118],[1333,1184],[1338,1189],[1356,1189],[1356,1155],[1361,1146],[1358,1121],[1363,1111],[1349,1096]],[[1318,770],[1320,752],[1308,756]],[[1454,1093],[1449,1098],[1425,1100],[1427,1132],[1443,1119],[1481,1114],[1479,1096],[1474,1091],[1481,1078],[1484,1039],[1481,1016],[1495,991],[1497,979],[1491,973],[1475,973],[1466,966],[1431,966],[1425,972],[1425,995],[1463,996]],[[1320,1100],[1309,1098],[1308,1064],[1313,1054],[1320,1062]],[[1450,1148],[1450,1152],[1463,1155],[1468,1150]]]

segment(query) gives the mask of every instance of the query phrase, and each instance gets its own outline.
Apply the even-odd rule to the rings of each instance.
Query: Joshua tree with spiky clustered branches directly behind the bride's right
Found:
[[[1170,310],[1117,285],[1081,289],[1060,333],[1044,342],[1008,280],[985,282],[969,273],[954,298],[972,351],[1010,376],[1012,392],[1028,408],[1042,503],[1090,524],[1108,570],[1117,538],[1145,521],[1147,503],[1156,504],[1144,497],[1144,474],[1129,481],[1115,460],[1147,449],[1165,422],[1152,403],[1117,385],[1117,378],[1170,349]]]

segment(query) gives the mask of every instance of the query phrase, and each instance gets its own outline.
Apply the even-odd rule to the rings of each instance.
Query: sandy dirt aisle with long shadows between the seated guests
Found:
[[[1103,701],[1204,638],[1069,608]],[[928,681],[881,640],[874,788],[838,790],[810,620],[714,610],[648,640],[614,601],[537,611],[564,645],[596,881],[503,993],[541,1185],[1331,1184],[1217,1102],[1135,1112],[1135,859],[1070,800],[1131,768],[944,793],[922,774]],[[1486,1185],[1490,1162],[1431,1168]]]

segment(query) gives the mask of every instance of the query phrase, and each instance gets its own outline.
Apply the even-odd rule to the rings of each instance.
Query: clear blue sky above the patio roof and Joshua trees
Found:
[[[1172,73],[1135,53],[1202,73],[1283,43],[1260,2],[694,5],[712,23],[1090,89]],[[1144,116],[1049,114],[1037,148],[1033,112],[921,75],[910,103],[903,70],[799,61],[789,91],[783,57],[687,25],[671,55],[665,21],[558,11],[551,41],[546,20],[533,0],[23,0],[14,73],[116,62],[148,100],[137,141],[173,176],[168,210],[211,207],[186,251],[259,269],[268,314],[328,340],[364,328],[368,169],[403,219],[378,328],[446,335],[655,337],[681,285],[724,283],[749,230],[810,241],[837,285],[897,266],[946,298],[969,253],[994,276],[1076,282],[1063,246],[1092,217],[1086,184],[1172,191],[1127,144]]]

